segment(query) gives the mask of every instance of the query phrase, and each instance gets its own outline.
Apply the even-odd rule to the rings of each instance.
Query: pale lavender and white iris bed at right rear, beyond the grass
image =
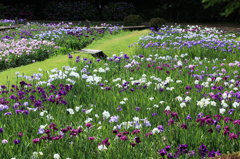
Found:
[[[139,44],[145,51],[164,53],[167,50],[167,53],[173,54],[188,52],[192,57],[201,58],[224,58],[232,54],[231,58],[234,59],[240,50],[240,42],[234,39],[235,34],[226,34],[215,28],[166,26],[159,30],[153,29],[152,33],[139,40]]]

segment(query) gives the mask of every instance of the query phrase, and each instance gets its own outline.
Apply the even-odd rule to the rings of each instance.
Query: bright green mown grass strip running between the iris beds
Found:
[[[103,50],[108,56],[112,54],[118,54],[119,52],[125,52],[128,54],[132,54],[134,52],[134,48],[129,48],[128,46],[133,44],[138,40],[138,38],[143,35],[147,34],[149,30],[143,31],[125,31],[121,32],[117,35],[107,35],[100,40],[94,41],[90,44],[87,48],[88,49],[99,49]],[[82,55],[81,53],[73,54],[73,56],[81,55],[82,57],[92,58],[89,55]],[[11,68],[6,71],[0,72],[1,82],[0,84],[7,84],[10,82],[11,84],[16,84],[17,78],[15,73],[20,72],[24,75],[32,75],[33,73],[38,72],[38,69],[41,68],[42,70],[50,70],[53,68],[61,68],[62,66],[68,65],[68,58],[67,55],[59,55],[47,59],[45,61],[36,62],[30,65]]]

